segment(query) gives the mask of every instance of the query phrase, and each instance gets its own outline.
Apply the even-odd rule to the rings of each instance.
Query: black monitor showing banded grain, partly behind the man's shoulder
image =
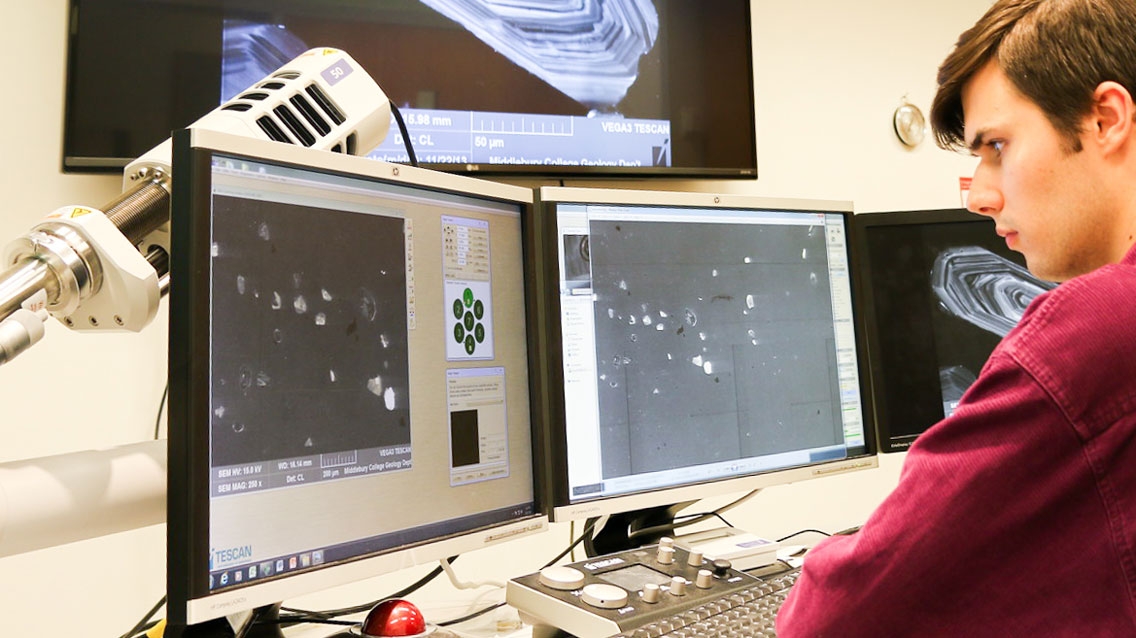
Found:
[[[949,417],[994,346],[1054,284],[961,209],[858,215],[868,358],[882,452]]]

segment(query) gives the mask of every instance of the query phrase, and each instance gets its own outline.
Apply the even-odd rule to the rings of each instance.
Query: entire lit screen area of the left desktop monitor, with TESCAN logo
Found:
[[[520,208],[212,173],[210,588],[534,514]]]

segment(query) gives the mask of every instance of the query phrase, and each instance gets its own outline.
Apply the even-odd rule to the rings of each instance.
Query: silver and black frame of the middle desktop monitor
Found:
[[[790,469],[770,470],[750,473],[742,477],[719,479],[685,486],[675,486],[657,490],[638,492],[626,495],[595,498],[573,503],[569,498],[568,469],[566,465],[566,430],[565,420],[562,341],[560,333],[560,299],[559,299],[559,262],[558,229],[554,205],[559,203],[595,203],[595,204],[632,204],[632,205],[677,205],[690,208],[734,208],[783,211],[832,212],[845,217],[845,249],[849,257],[850,287],[855,314],[857,359],[861,387],[861,410],[863,412],[864,452],[845,459],[801,465]],[[862,317],[857,311],[858,282],[854,276],[857,255],[853,251],[852,223],[853,208],[851,202],[828,200],[795,200],[761,198],[742,194],[688,193],[670,191],[608,190],[593,187],[545,186],[536,194],[536,224],[534,230],[533,253],[536,255],[534,280],[537,283],[535,293],[543,300],[545,316],[536,327],[541,331],[538,351],[542,363],[538,368],[542,375],[537,389],[542,393],[540,403],[548,410],[543,421],[542,444],[544,463],[542,465],[542,485],[544,501],[549,504],[548,513],[553,522],[575,521],[626,513],[648,507],[668,506],[676,503],[696,501],[729,493],[761,489],[775,485],[797,482],[845,472],[867,470],[879,465],[876,455],[875,427],[870,422],[871,396],[867,392],[867,355],[863,335]],[[537,245],[538,243],[538,245]]]

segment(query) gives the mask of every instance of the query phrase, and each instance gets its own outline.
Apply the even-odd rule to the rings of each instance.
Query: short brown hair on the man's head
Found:
[[[938,68],[930,123],[939,146],[966,146],[962,87],[991,60],[1079,151],[1097,85],[1136,91],[1136,0],[995,2]]]

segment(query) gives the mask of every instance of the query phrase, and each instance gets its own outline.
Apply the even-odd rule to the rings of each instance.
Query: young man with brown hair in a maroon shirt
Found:
[[[778,636],[1136,636],[1136,0],[999,0],[938,84],[969,208],[1062,284],[808,554]]]

